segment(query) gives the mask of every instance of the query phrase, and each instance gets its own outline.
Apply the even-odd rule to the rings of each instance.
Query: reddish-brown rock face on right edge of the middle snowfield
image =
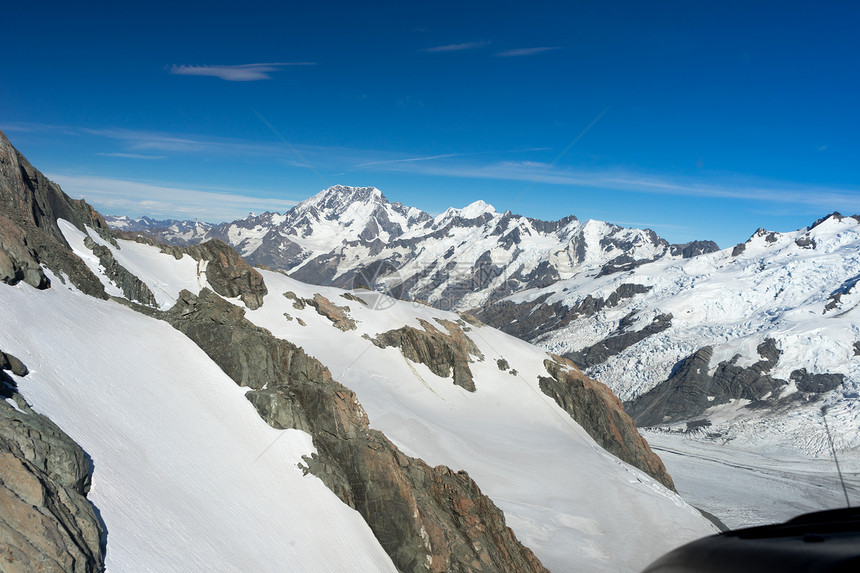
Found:
[[[549,376],[538,378],[540,389],[570,414],[609,453],[675,489],[662,460],[651,451],[624,406],[605,385],[585,376],[560,356],[545,360]]]

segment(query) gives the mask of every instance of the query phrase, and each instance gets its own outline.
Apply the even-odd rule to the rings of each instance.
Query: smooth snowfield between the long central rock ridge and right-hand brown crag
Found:
[[[115,258],[150,288],[165,284],[166,292],[176,291],[170,286],[173,273],[181,284],[191,280],[190,269],[183,271],[177,265],[181,261],[157,248],[118,243],[120,249],[111,247]],[[174,266],[166,267],[164,259]],[[546,375],[547,357],[539,348],[490,327],[472,328],[467,334],[485,359],[470,364],[477,390],[469,393],[405,359],[397,348],[381,349],[362,337],[403,325],[421,328],[419,318],[434,323],[435,318],[458,320],[458,315],[353,292],[369,303],[365,306],[345,299],[340,289],[261,272],[269,294],[246,316],[328,366],[336,380],[357,393],[371,426],[406,454],[467,470],[550,570],[638,571],[665,551],[714,531],[678,495],[600,448],[539,390],[537,378]],[[357,330],[336,329],[310,305],[296,309],[284,296],[288,291],[301,298],[320,293],[347,305]],[[517,375],[500,370],[498,358]],[[254,455],[260,451],[251,450]],[[268,457],[267,452],[261,461]],[[97,462],[97,472],[98,467]]]

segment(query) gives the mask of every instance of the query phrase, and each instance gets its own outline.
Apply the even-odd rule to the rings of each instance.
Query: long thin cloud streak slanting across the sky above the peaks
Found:
[[[297,144],[287,147],[282,142],[256,142],[123,129],[78,128],[77,133],[87,133],[121,141],[131,155],[136,153],[140,155],[163,154],[168,157],[177,154],[201,154],[213,157],[244,155],[272,158],[284,163],[292,162],[291,164],[297,167],[307,167],[310,164],[316,169],[346,174],[400,172],[439,177],[522,181],[593,190],[738,199],[769,204],[772,206],[769,207],[771,209],[807,206],[827,212],[840,210],[860,213],[860,188],[804,185],[744,175],[680,176],[665,173],[645,173],[620,167],[586,170],[537,161],[490,159],[479,161],[475,158],[466,158],[466,156],[485,155],[483,152],[440,153],[422,156],[334,146]],[[524,149],[520,151],[535,150]],[[296,151],[301,154],[301,161],[296,161],[298,158]],[[495,151],[487,154],[492,153],[509,152]],[[128,185],[123,186],[123,188],[131,189]],[[163,188],[172,189],[169,185]],[[171,193],[175,192],[175,190],[171,191]],[[250,201],[246,201],[244,193],[244,190],[237,190],[231,194],[235,198],[234,212],[247,212],[249,208],[275,208],[269,203],[269,200],[261,200],[262,202],[256,203],[256,206],[249,207]],[[167,195],[167,197],[169,196]],[[252,192],[249,196],[253,198],[255,195]],[[211,201],[213,197],[221,198],[222,195],[218,192],[212,192],[206,197],[206,201]],[[205,202],[201,202],[199,205],[211,207]],[[189,210],[189,214],[195,212],[196,209],[197,207]]]

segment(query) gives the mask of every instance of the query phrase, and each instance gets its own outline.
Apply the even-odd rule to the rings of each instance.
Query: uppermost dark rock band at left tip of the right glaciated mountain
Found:
[[[589,316],[603,308],[617,306],[622,300],[646,293],[652,287],[624,283],[606,298],[594,298],[590,294],[575,305],[568,307],[560,302],[548,304],[549,295],[531,302],[516,304],[499,301],[491,306],[473,311],[483,322],[523,340],[534,340],[538,336],[563,328],[580,316]]]

